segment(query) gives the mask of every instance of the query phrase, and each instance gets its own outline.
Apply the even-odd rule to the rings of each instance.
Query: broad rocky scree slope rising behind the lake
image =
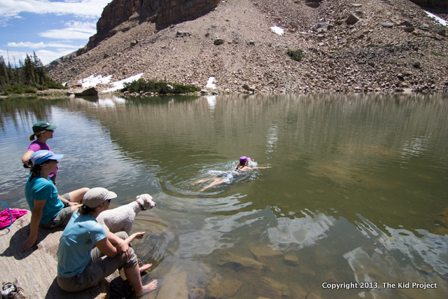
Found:
[[[179,12],[160,19],[170,15],[160,9],[143,18],[143,6],[130,6],[135,2],[112,1],[128,13],[104,13],[102,38],[54,62],[49,75],[61,82],[90,75],[118,81],[143,73],[200,88],[214,76],[216,92],[448,91],[448,28],[409,0],[226,0],[209,13],[209,6],[197,12],[192,6],[182,22]]]

